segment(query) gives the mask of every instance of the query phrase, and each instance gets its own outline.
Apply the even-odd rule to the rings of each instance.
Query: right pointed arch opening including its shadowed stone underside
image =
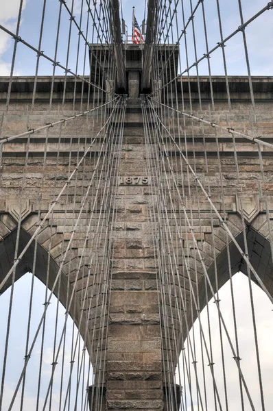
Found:
[[[244,234],[236,240],[246,252]],[[247,229],[246,240],[250,262],[272,295],[270,241],[252,227]],[[211,263],[208,275],[215,295],[208,291],[203,277],[198,284],[200,312],[189,305],[187,321],[184,319],[187,338],[181,344],[176,368],[181,409],[269,409],[273,400],[269,383],[273,369],[272,303],[254,275],[248,273],[233,242]]]

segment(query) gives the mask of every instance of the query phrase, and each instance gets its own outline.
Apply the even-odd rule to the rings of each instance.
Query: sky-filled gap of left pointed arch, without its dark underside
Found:
[[[27,353],[43,316],[43,301],[48,292],[45,284],[29,272],[14,284],[7,349],[6,333],[2,332],[0,336],[0,352],[3,354],[0,379],[5,374],[3,410],[9,410],[12,406],[11,410],[58,411],[69,407],[74,409],[75,403],[87,404],[86,388],[92,382],[93,368],[75,322],[71,316],[65,321],[66,310],[55,296],[51,299],[19,384]],[[11,288],[8,288],[0,296],[0,327],[3,330],[7,329],[10,294]],[[31,299],[32,307],[29,308]]]

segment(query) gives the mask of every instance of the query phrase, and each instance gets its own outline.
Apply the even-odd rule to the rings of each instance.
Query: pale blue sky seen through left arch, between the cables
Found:
[[[5,375],[5,389],[3,394],[3,411],[7,411],[10,406],[10,401],[14,395],[14,390],[16,384],[19,381],[19,376],[23,369],[24,357],[25,357],[25,345],[26,345],[26,335],[27,335],[27,319],[29,312],[29,295],[30,288],[32,283],[32,274],[26,273],[21,279],[19,279],[14,286],[14,304],[12,308],[12,321],[10,327],[10,343],[8,348],[8,361],[7,361],[7,373]],[[43,314],[45,302],[45,285],[40,282],[36,277],[34,278],[34,298],[32,306],[32,321],[29,332],[29,342],[32,343],[34,334],[38,327],[38,322]],[[10,289],[5,291],[3,295],[0,296],[0,328],[5,330],[7,327],[8,319],[8,310],[10,302]],[[47,393],[47,388],[49,385],[49,380],[51,377],[52,362],[54,358],[54,336],[55,336],[55,321],[56,321],[56,308],[57,308],[57,299],[55,296],[51,299],[49,308],[47,309],[46,323],[45,323],[45,338],[44,338],[44,348],[43,348],[43,361],[41,368],[41,387],[40,387],[40,408],[43,409],[45,403],[45,397]],[[64,327],[64,307],[59,304],[58,306],[58,332],[56,335],[57,347],[60,342],[60,336],[62,328]],[[38,390],[38,373],[39,373],[39,364],[40,364],[40,353],[42,349],[42,338],[41,332],[38,336],[36,344],[34,345],[34,350],[32,356],[29,360],[29,365],[27,366],[26,373],[26,384],[25,384],[25,395],[23,402],[24,411],[36,410],[36,398]],[[53,384],[53,395],[51,403],[51,411],[59,411],[60,404],[60,392],[62,391],[62,403],[64,403],[64,398],[67,394],[67,386],[69,382],[70,375],[70,366],[71,366],[71,351],[75,350],[75,340],[77,336],[77,329],[74,327],[73,333],[73,321],[69,316],[67,321],[67,332],[66,332],[66,343],[64,345],[64,378],[62,390],[60,387],[61,380],[61,366],[63,353],[62,349],[60,350],[60,355],[58,356],[58,364],[56,366],[56,371],[54,373],[54,384]],[[72,347],[73,339],[73,350]],[[62,344],[63,348],[63,344]],[[82,348],[83,340],[80,338],[80,362],[82,360]],[[2,361],[3,361],[3,352],[5,350],[5,332],[0,333],[0,379],[2,375]],[[73,356],[73,354],[72,354]],[[75,386],[76,386],[76,375],[78,370],[78,351],[77,355],[74,358],[75,363],[73,365],[72,371],[72,382],[71,386],[71,408],[73,408],[75,403]],[[82,401],[82,382],[84,380],[84,399],[85,399],[85,388],[86,384],[89,381],[90,385],[92,384],[92,369],[91,373],[88,375],[88,356],[85,356],[84,359],[85,371],[82,369],[82,377],[80,380],[80,394],[79,401]],[[83,376],[84,375],[84,376]],[[12,410],[19,411],[21,406],[21,390],[19,390],[19,395],[16,397],[14,406]],[[68,403],[67,403],[68,406]],[[49,401],[47,401],[47,407],[45,410],[49,410]],[[66,408],[67,410],[67,408]]]

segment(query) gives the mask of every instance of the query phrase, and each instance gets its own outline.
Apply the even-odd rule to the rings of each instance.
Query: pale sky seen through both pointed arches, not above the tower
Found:
[[[19,379],[19,375],[23,368],[23,358],[25,356],[25,338],[27,329],[27,315],[28,315],[28,301],[30,286],[32,282],[32,275],[30,273],[25,274],[18,282],[16,282],[14,287],[14,308],[12,310],[12,322],[10,329],[10,345],[8,349],[8,363],[7,363],[7,375],[5,377],[5,390],[3,397],[3,410],[8,410],[10,404],[10,399],[14,393],[16,387],[16,382]],[[254,354],[254,333],[252,327],[252,318],[250,310],[250,297],[249,297],[249,286],[248,278],[242,273],[237,273],[233,277],[233,287],[235,290],[235,306],[237,313],[237,329],[239,337],[239,351],[241,356],[241,369],[246,378],[246,383],[251,393],[252,401],[254,402],[255,410],[261,410],[261,399],[259,395],[259,382],[257,379],[257,361]],[[273,367],[273,327],[272,327],[272,304],[270,303],[268,297],[265,293],[254,283],[252,283],[253,293],[254,293],[254,307],[255,315],[257,319],[257,335],[259,341],[259,350],[261,356],[261,370],[263,377],[263,390],[265,396],[265,410],[270,410],[273,393],[272,393],[272,367]],[[10,290],[3,293],[0,296],[0,329],[6,329],[7,317],[8,317],[8,305],[10,299]],[[231,309],[231,299],[230,299],[230,282],[227,282],[219,290],[219,299],[221,300],[221,310],[224,316],[224,321],[230,333],[230,338],[235,344],[235,336],[233,332],[233,312]],[[19,302],[20,301],[20,302]],[[36,327],[40,316],[43,314],[43,301],[45,301],[45,286],[39,279],[34,280],[34,301],[32,307],[32,324],[30,328],[30,340],[34,336]],[[45,345],[44,345],[44,355],[42,363],[42,384],[40,391],[40,406],[43,406],[45,401],[45,393],[47,386],[49,384],[49,379],[51,376],[51,363],[53,361],[53,340],[54,340],[54,324],[56,318],[56,306],[57,299],[53,297],[51,304],[47,310],[46,318],[46,332],[45,332]],[[213,347],[213,362],[215,362],[215,380],[217,382],[217,388],[219,389],[219,396],[224,408],[224,383],[222,376],[222,354],[219,345],[219,323],[217,309],[213,301],[209,302],[209,313],[211,320],[211,330],[212,330],[212,347]],[[201,323],[204,329],[204,335],[206,342],[209,341],[208,327],[206,321],[206,310],[201,313]],[[60,340],[60,332],[64,324],[64,308],[59,306],[58,314],[58,335],[57,342]],[[74,329],[75,331],[75,329]],[[200,351],[200,327],[198,321],[194,325],[195,333],[195,345],[196,345],[196,359],[198,360],[198,378],[200,378],[200,386],[202,390],[202,358]],[[69,317],[67,323],[67,338],[64,353],[64,385],[62,387],[62,401],[67,391],[68,376],[70,370],[71,361],[71,340],[73,336],[73,322]],[[75,336],[75,334],[74,334]],[[191,330],[190,337],[191,342],[193,341],[193,331]],[[75,337],[74,337],[75,342]],[[230,351],[228,345],[228,340],[226,339],[223,332],[223,343],[224,343],[224,355],[225,355],[225,366],[226,366],[226,381],[228,389],[228,401],[229,409],[232,411],[240,411],[240,400],[239,400],[239,384],[238,375],[235,362],[233,360],[233,355]],[[208,343],[209,344],[209,343]],[[5,332],[0,334],[0,352],[3,353],[5,347]],[[185,342],[185,347],[187,347],[187,340]],[[82,348],[82,339],[81,339]],[[24,408],[23,411],[29,411],[36,409],[36,395],[38,386],[38,364],[40,361],[41,352],[41,337],[39,336],[36,345],[34,346],[34,351],[32,357],[29,360],[29,366],[27,369],[27,379],[25,384],[25,396],[24,396]],[[82,351],[80,351],[82,353]],[[186,356],[188,355],[188,350],[185,351]],[[1,356],[3,358],[3,356]],[[183,390],[186,392],[187,397],[187,411],[200,411],[198,410],[197,400],[196,400],[196,385],[194,380],[194,372],[192,365],[191,355],[189,356],[189,364],[191,367],[191,378],[192,378],[192,393],[193,393],[193,408],[189,406],[190,396],[189,396],[189,385],[184,384],[182,378]],[[58,404],[60,401],[60,375],[61,375],[61,363],[62,363],[62,353],[58,358],[58,365],[56,367],[54,388],[53,388],[53,400],[51,411],[58,411]],[[85,358],[85,372],[84,372],[84,386],[87,381],[92,383],[92,370],[88,376],[88,358]],[[206,375],[206,394],[208,401],[208,408],[206,411],[215,411],[213,406],[213,385],[211,382],[211,374],[209,367],[207,366],[208,360],[206,355],[204,356],[205,365],[205,375]],[[73,382],[71,391],[71,403],[75,399],[75,373],[78,366],[78,357],[75,358],[75,364],[73,368]],[[0,362],[0,377],[2,364]],[[182,356],[180,356],[180,371],[182,373]],[[81,380],[82,382],[82,380]],[[176,376],[176,382],[179,384],[178,375]],[[14,408],[12,410],[19,411],[21,402],[21,391],[16,397],[14,403]],[[203,393],[203,391],[202,391]],[[202,395],[204,401],[204,395]],[[80,401],[81,401],[80,397]],[[250,411],[250,406],[248,400],[245,398],[245,411]],[[48,410],[48,408],[45,408]]]

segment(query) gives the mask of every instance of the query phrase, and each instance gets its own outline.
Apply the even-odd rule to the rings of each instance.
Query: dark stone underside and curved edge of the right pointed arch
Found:
[[[229,227],[233,225],[233,234],[235,234],[235,239],[237,240],[239,246],[243,251],[245,251],[244,247],[244,233],[238,229],[241,227],[241,217],[236,214],[229,216],[230,221],[228,221]],[[237,232],[235,232],[235,224],[237,224]],[[222,227],[217,228],[218,234],[222,233],[222,238],[226,238],[226,233]],[[252,222],[251,225],[248,225],[246,228],[246,239],[248,245],[248,254],[250,258],[250,262],[254,268],[254,270],[259,275],[261,281],[265,285],[265,287],[270,292],[270,295],[273,297],[273,262],[271,256],[271,249],[270,249],[270,240],[268,239],[269,232],[268,232],[268,223],[265,214],[259,214],[256,219]],[[230,265],[231,265],[231,273],[235,275],[238,271],[241,271],[245,275],[247,275],[247,268],[244,258],[239,253],[236,245],[233,241],[229,242],[229,251],[230,251]],[[207,258],[206,258],[207,257]],[[218,288],[222,288],[226,282],[230,279],[230,273],[228,269],[228,250],[227,247],[223,247],[221,251],[217,253],[215,260],[211,258],[209,255],[209,251],[207,256],[204,254],[205,260],[209,260],[210,264],[207,266],[207,273],[209,275],[209,279],[213,286],[213,289],[216,292],[216,282],[215,282],[215,263],[217,266],[217,281],[218,281]],[[255,279],[254,275],[251,276],[252,281],[259,285],[257,279]],[[205,277],[204,274],[200,278],[198,282],[198,287],[195,290],[195,293],[198,292],[199,302],[200,302],[200,312],[206,307],[206,293],[205,293]],[[209,300],[212,298],[211,291],[208,287],[208,295]],[[265,296],[266,298],[266,296]],[[198,318],[198,314],[196,310],[193,308],[193,312],[191,309],[187,310],[187,323],[189,330],[195,323],[195,320]],[[187,325],[186,321],[182,320],[182,333],[180,331],[180,325],[178,325],[178,356],[180,355],[182,349],[182,336],[183,339],[186,340],[187,338]],[[178,358],[176,358],[175,363],[177,364]],[[175,364],[175,365],[176,365]]]

